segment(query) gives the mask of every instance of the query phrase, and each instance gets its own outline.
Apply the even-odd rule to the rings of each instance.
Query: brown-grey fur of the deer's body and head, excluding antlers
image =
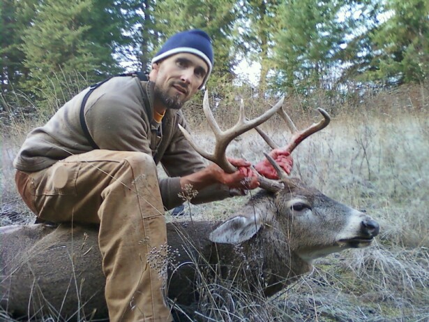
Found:
[[[292,211],[296,198],[310,203],[311,210]],[[227,279],[239,289],[273,295],[294,277],[308,272],[311,259],[356,247],[336,240],[336,235],[345,234],[342,231],[352,216],[359,217],[354,219],[358,223],[370,220],[317,190],[291,182],[280,193],[259,193],[222,223],[167,224],[171,262],[168,296],[180,305],[195,304],[202,285],[197,281],[203,273],[213,281]],[[234,221],[239,217],[250,220],[245,230],[255,230],[251,237],[239,244],[211,242],[211,237],[240,235],[244,228],[241,221]],[[347,233],[350,238],[362,234],[358,226],[356,233]],[[63,317],[89,316],[95,309],[96,317],[107,317],[96,226],[8,226],[0,228],[0,236],[3,309],[18,316],[41,310]]]

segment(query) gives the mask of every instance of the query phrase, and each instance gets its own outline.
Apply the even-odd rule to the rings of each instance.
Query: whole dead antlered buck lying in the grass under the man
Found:
[[[227,160],[226,149],[242,133],[255,129],[272,149],[278,148],[259,127],[275,113],[292,132],[290,142],[283,147],[290,153],[331,120],[319,108],[323,119],[298,131],[283,110],[283,101],[280,99],[256,122],[246,118],[241,101],[239,121],[221,131],[206,92],[203,110],[216,136],[213,154],[198,147],[190,133],[181,130],[199,154],[232,173],[236,169]],[[204,283],[197,282],[201,272],[255,296],[270,297],[310,272],[316,258],[368,247],[378,235],[379,224],[368,214],[288,177],[269,154],[265,155],[279,179],[259,175],[262,189],[228,219],[167,223],[167,258],[162,260],[170,261],[165,292],[173,307],[198,302],[204,291]],[[52,313],[64,319],[108,318],[97,226],[4,226],[0,240],[0,305],[8,314],[27,319]],[[158,254],[155,251],[149,256],[156,258]]]

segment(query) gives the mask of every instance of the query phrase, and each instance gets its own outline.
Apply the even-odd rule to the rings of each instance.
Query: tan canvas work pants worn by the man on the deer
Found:
[[[110,321],[172,321],[163,298],[167,233],[151,156],[94,150],[36,173],[17,171],[16,182],[38,217],[100,224]]]

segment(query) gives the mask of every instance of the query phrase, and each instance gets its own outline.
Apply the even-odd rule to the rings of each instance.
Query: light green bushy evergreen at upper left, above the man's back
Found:
[[[92,73],[102,65],[94,54],[100,48],[86,37],[91,26],[82,22],[82,16],[92,8],[92,0],[38,3],[22,45],[24,66],[31,73],[26,83],[29,91],[41,98],[60,98],[64,96],[62,83],[74,78],[75,73]]]

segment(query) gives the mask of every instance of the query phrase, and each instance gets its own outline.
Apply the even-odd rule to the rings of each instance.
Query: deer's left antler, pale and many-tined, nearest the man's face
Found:
[[[180,124],[179,128],[181,129],[186,139],[188,139],[188,141],[190,142],[190,145],[195,149],[195,151],[201,154],[205,159],[216,163],[226,173],[234,173],[236,171],[236,168],[232,166],[232,164],[227,160],[226,157],[226,149],[229,143],[237,136],[240,136],[241,134],[245,133],[246,131],[249,131],[250,129],[254,129],[256,126],[264,123],[267,119],[272,117],[276,112],[281,109],[284,99],[284,97],[281,98],[276,105],[264,112],[264,114],[250,121],[246,119],[246,115],[244,113],[244,103],[243,100],[241,100],[239,121],[231,129],[228,129],[227,131],[222,131],[216,123],[216,120],[213,117],[213,113],[210,110],[209,94],[208,92],[205,92],[203,100],[203,110],[204,114],[206,115],[207,122],[209,122],[211,130],[216,137],[216,146],[212,154],[198,147],[193,141],[188,131],[183,129]]]

